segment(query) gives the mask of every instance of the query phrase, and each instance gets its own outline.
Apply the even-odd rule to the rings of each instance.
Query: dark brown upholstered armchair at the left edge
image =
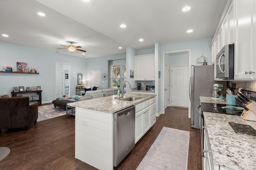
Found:
[[[36,123],[38,102],[29,105],[29,97],[0,98],[0,133],[2,129],[26,128]]]

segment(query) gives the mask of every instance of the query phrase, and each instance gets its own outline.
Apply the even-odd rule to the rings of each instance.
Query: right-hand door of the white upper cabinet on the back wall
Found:
[[[151,55],[146,57],[146,80],[155,80],[155,56]]]

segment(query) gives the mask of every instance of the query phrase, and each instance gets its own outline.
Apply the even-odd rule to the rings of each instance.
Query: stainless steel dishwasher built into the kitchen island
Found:
[[[114,166],[135,147],[135,107],[114,113]]]

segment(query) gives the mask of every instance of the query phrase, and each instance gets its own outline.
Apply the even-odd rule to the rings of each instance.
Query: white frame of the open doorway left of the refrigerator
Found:
[[[163,52],[163,61],[162,61],[163,76],[162,77],[164,77],[165,56],[172,53],[184,53],[184,52],[188,52],[188,82],[189,82],[190,76],[191,76],[191,69],[190,69],[191,68],[191,49]],[[162,94],[164,94],[164,78],[162,78]],[[172,98],[172,97],[169,96],[169,98]],[[189,94],[188,94],[188,98],[189,98]],[[164,101],[164,95],[162,95],[162,101]],[[162,102],[162,108],[164,108],[164,102]],[[191,118],[190,108],[191,108],[191,102],[189,102],[188,104],[188,118]],[[163,114],[164,113],[165,113],[165,109],[163,109]]]

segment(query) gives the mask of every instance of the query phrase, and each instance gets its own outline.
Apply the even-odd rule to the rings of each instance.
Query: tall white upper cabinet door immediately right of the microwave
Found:
[[[253,69],[253,0],[236,0],[236,37],[234,78],[250,79],[245,71]],[[247,9],[247,10],[245,10]]]

